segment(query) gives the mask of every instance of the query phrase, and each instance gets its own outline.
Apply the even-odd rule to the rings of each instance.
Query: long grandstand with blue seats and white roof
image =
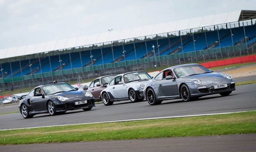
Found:
[[[256,11],[184,19],[0,49],[0,86],[32,87],[254,53]]]

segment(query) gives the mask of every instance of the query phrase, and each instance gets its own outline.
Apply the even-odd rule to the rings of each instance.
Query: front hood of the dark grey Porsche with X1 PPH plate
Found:
[[[230,83],[233,81],[233,79],[230,80],[228,78],[225,78],[222,74],[215,73],[215,72],[187,76],[187,77],[180,78],[180,80],[188,81],[194,78],[199,79],[202,82],[202,84],[222,84],[222,83]]]

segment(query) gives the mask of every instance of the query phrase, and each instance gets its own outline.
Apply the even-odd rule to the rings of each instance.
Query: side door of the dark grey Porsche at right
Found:
[[[164,95],[165,97],[178,95],[178,86],[177,86],[176,80],[175,79],[166,80],[164,78],[164,73],[166,72],[162,72],[162,75],[161,75],[162,77],[161,76],[156,77],[157,79],[156,81],[157,81],[159,90],[162,92],[162,95]]]

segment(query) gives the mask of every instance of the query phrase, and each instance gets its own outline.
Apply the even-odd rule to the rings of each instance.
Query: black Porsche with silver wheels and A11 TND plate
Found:
[[[91,110],[94,97],[88,91],[79,91],[70,84],[59,82],[46,84],[32,89],[19,102],[19,111],[23,118],[32,118],[36,114],[63,114],[68,110]]]

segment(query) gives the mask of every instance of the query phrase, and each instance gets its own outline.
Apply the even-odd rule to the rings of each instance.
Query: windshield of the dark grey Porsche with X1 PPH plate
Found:
[[[191,76],[195,74],[208,73],[208,72],[211,72],[211,71],[201,65],[188,65],[184,67],[174,68],[174,73],[178,78],[181,78],[184,76]]]

